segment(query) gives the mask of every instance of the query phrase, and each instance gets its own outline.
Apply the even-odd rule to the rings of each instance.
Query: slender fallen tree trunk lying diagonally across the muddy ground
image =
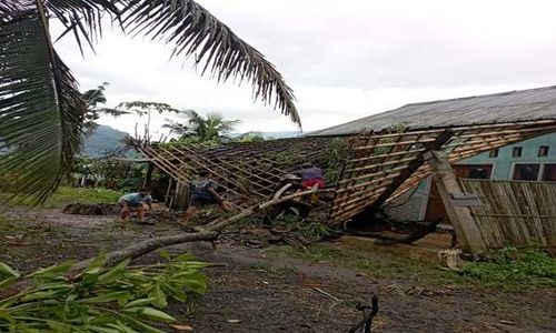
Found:
[[[330,190],[309,190],[309,191],[304,191],[304,192],[298,192],[291,195],[287,195],[280,199],[274,199],[267,202],[264,202],[261,204],[255,205],[252,208],[249,208],[247,210],[241,211],[240,213],[232,215],[230,218],[224,219],[224,220],[216,220],[206,225],[206,228],[199,232],[189,232],[189,233],[180,233],[177,235],[170,235],[170,236],[160,236],[160,238],[153,238],[149,239],[139,243],[136,243],[131,246],[123,248],[120,250],[116,250],[112,252],[107,253],[106,255],[106,268],[109,268],[111,265],[115,265],[118,262],[121,262],[125,259],[136,259],[139,256],[142,256],[147,253],[150,253],[152,251],[156,251],[161,248],[170,246],[170,245],[177,245],[181,243],[188,243],[188,242],[198,242],[198,241],[212,241],[218,238],[220,232],[226,229],[229,225],[235,224],[236,222],[240,221],[241,219],[245,219],[249,215],[252,215],[257,212],[260,212],[265,209],[268,209],[270,206],[280,204],[282,202],[300,198],[304,195],[308,194],[314,194],[317,192],[327,192]],[[79,276],[79,274],[90,264],[90,262],[93,259],[87,259],[83,261],[80,261],[76,263],[71,270],[66,274],[67,279],[73,280]],[[24,279],[21,281],[16,282],[12,284],[10,287],[7,287],[3,291],[0,291],[0,300],[4,300],[7,297],[13,296],[18,294],[19,292],[30,287],[33,285],[33,281],[30,279]]]

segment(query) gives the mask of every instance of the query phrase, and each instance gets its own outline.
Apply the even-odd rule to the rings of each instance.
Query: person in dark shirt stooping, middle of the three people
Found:
[[[199,178],[191,182],[191,196],[189,199],[189,208],[183,216],[183,224],[188,224],[189,220],[197,213],[197,210],[205,205],[218,204],[225,211],[232,209],[231,203],[224,200],[216,192],[218,186],[218,183],[209,178],[207,171],[199,171]]]

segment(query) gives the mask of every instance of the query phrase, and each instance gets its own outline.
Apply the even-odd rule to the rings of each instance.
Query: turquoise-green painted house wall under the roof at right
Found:
[[[548,145],[548,157],[539,158],[538,148]],[[514,147],[522,147],[522,157],[513,158],[512,152]],[[515,144],[503,147],[498,150],[497,158],[489,158],[489,153],[485,152],[461,162],[458,164],[494,164],[493,179],[504,180],[512,179],[512,165],[514,163],[556,163],[556,133],[546,134],[543,137],[517,142]]]

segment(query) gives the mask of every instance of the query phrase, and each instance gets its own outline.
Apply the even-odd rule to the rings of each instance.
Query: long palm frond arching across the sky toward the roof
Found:
[[[219,81],[250,81],[256,99],[274,104],[301,127],[292,90],[272,63],[192,0],[122,0],[123,27],[173,44],[172,56],[196,54]]]

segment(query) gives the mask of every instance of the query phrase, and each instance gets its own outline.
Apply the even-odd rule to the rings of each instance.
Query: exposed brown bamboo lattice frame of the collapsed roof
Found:
[[[344,135],[348,158],[332,191],[329,223],[339,225],[377,210],[430,175],[430,169],[424,163],[427,151],[444,150],[450,163],[455,163],[552,132],[556,132],[556,119]],[[140,142],[136,148],[181,183],[192,181],[200,169],[209,171],[237,206],[248,208],[268,200],[280,176],[298,169],[302,162],[326,161],[335,138],[338,137],[217,147]]]

